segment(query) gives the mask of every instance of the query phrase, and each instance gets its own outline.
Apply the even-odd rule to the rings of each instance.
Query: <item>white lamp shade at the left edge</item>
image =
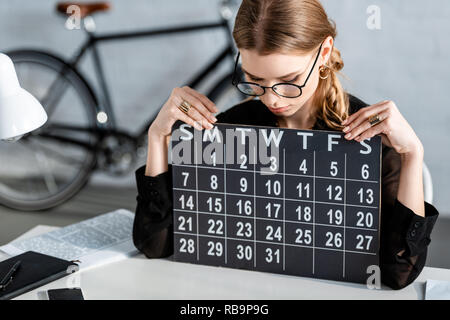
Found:
[[[0,139],[21,136],[46,121],[39,101],[20,87],[11,59],[0,53]]]

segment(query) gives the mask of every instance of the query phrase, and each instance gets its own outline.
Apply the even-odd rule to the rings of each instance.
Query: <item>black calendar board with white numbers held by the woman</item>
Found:
[[[173,259],[365,283],[379,265],[381,138],[178,121]]]

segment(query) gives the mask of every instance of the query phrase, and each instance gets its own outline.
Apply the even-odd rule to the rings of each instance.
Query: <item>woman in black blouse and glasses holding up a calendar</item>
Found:
[[[438,212],[424,201],[422,144],[395,103],[369,106],[344,92],[336,74],[343,67],[336,28],[317,0],[244,0],[233,37],[246,77],[233,82],[251,97],[215,118],[218,109],[204,95],[189,87],[172,91],[148,130],[146,166],[136,171],[136,247],[149,258],[173,253],[167,148],[177,120],[200,130],[226,122],[339,130],[356,141],[380,135],[381,281],[394,289],[409,285],[425,265]]]

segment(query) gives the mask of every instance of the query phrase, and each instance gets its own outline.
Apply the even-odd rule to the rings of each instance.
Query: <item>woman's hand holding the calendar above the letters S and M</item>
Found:
[[[183,101],[192,105],[187,114],[178,108]],[[148,134],[159,137],[170,136],[172,126],[177,120],[181,120],[198,130],[211,129],[212,123],[217,121],[213,113],[218,111],[219,109],[208,97],[194,89],[188,86],[175,88],[148,129]]]

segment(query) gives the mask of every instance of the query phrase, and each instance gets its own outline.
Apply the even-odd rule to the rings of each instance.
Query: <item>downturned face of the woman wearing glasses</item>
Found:
[[[331,37],[328,37],[324,41],[321,54],[317,59],[306,86],[302,88],[301,96],[297,98],[285,98],[277,95],[272,89],[266,88],[265,94],[259,98],[270,111],[277,116],[289,117],[300,110],[313,97],[319,84],[319,67],[325,61],[328,61],[332,41]],[[240,52],[245,81],[255,82],[268,87],[279,82],[290,82],[301,86],[305,83],[308,73],[313,67],[318,48],[311,53],[303,55],[273,53],[263,56],[259,55],[256,50],[246,49],[241,49]]]

